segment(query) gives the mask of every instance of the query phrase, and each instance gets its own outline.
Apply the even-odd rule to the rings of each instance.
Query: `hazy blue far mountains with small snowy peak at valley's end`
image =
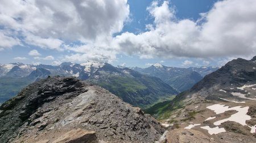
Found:
[[[147,68],[135,67],[132,69],[146,75],[159,77],[179,92],[183,92],[190,89],[194,84],[203,79],[205,75],[218,70],[218,68],[220,67],[177,68],[167,67],[160,63],[156,63]]]

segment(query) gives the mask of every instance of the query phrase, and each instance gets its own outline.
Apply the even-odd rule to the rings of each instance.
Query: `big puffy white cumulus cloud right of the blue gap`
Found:
[[[201,19],[176,19],[168,1],[147,8],[155,19],[147,32],[122,33],[114,45],[141,58],[229,57],[256,54],[256,1],[218,1]]]

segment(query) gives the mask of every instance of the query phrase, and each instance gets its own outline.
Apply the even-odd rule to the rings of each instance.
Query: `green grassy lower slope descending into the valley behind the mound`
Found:
[[[111,76],[106,81],[97,81],[96,84],[121,97],[123,101],[139,106],[142,109],[174,97],[173,94],[161,91],[159,85],[148,77]]]

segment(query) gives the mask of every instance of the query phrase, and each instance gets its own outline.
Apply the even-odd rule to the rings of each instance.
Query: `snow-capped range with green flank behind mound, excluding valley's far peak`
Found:
[[[61,63],[60,66],[22,63],[1,64],[0,102],[15,96],[22,88],[48,76],[74,76],[115,93],[134,106],[150,107],[174,98],[178,92],[157,77],[142,75],[129,68],[117,68],[108,63]]]

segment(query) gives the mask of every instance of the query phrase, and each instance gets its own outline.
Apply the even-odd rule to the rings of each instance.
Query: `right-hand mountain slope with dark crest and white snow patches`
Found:
[[[195,129],[216,142],[256,142],[256,57],[234,59],[171,102],[146,112],[171,128]]]

